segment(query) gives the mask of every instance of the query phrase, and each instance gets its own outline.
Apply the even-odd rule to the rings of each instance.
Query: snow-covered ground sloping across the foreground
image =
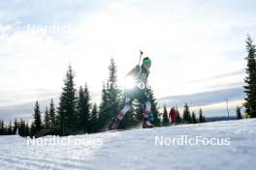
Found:
[[[171,139],[225,139],[224,146],[169,145]],[[163,146],[156,146],[165,139]],[[69,136],[92,141],[78,145],[27,145],[18,136],[0,136],[0,169],[238,169],[256,168],[256,120],[215,122],[169,128],[135,129]],[[41,138],[42,141],[45,138]],[[66,140],[68,137],[62,137]],[[41,144],[41,143],[39,143]],[[176,145],[175,145],[176,144]],[[180,144],[180,143],[179,143]]]

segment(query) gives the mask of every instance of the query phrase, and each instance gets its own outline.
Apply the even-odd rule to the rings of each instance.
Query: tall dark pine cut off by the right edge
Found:
[[[246,74],[244,79],[245,86],[244,93],[246,94],[244,106],[246,112],[250,115],[250,118],[256,117],[256,62],[255,62],[255,44],[253,44],[251,38],[248,36],[246,41],[246,50],[248,56],[245,58],[247,60]]]

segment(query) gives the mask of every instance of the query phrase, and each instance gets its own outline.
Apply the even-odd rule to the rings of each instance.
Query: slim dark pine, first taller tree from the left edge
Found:
[[[42,118],[41,118],[40,105],[38,101],[36,101],[36,104],[34,107],[33,123],[31,128],[32,128],[31,129],[32,135],[37,134],[42,129]]]

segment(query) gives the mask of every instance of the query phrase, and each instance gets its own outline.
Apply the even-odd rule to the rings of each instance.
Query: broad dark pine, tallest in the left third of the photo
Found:
[[[74,77],[75,74],[71,66],[69,66],[64,79],[64,87],[62,88],[58,107],[59,131],[62,135],[74,134],[78,130],[78,98]]]

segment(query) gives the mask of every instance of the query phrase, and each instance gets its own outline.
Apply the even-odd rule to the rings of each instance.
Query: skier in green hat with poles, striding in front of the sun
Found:
[[[130,82],[125,85],[130,85],[130,87],[125,88],[125,105],[118,112],[117,117],[114,119],[110,129],[118,128],[121,120],[123,119],[125,113],[131,108],[134,99],[138,99],[140,102],[144,103],[144,120],[143,128],[153,128],[154,126],[149,123],[148,117],[151,111],[151,104],[146,96],[146,83],[149,74],[149,68],[151,66],[151,60],[145,57],[142,66],[137,65],[132,71],[130,71],[125,77],[130,78]],[[132,82],[133,81],[133,82]]]

